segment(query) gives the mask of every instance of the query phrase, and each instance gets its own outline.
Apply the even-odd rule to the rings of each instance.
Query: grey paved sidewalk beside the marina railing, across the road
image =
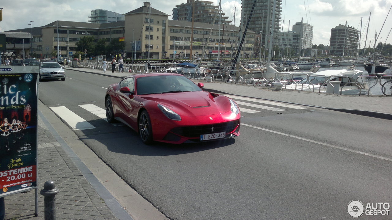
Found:
[[[134,73],[103,73],[100,69],[89,68],[66,68],[82,73],[123,78]],[[203,82],[205,91],[226,93],[230,95],[261,98],[265,100],[279,101],[290,104],[308,105],[336,111],[343,111],[364,116],[384,118],[392,120],[392,96],[384,95],[332,95],[330,93],[312,93],[308,91],[294,91],[283,89],[276,91],[274,88],[252,85],[231,84],[225,82]]]

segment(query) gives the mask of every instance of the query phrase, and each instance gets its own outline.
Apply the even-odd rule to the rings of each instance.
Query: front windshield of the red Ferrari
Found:
[[[202,91],[185,76],[147,76],[136,80],[137,95]]]

